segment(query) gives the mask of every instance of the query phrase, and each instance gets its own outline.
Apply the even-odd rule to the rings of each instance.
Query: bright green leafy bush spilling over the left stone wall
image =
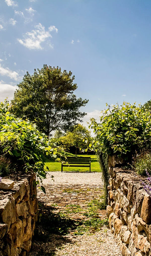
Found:
[[[35,124],[11,114],[7,101],[0,103],[0,156],[16,164],[16,170],[32,171],[40,179],[45,178],[46,157],[57,158],[58,150]],[[6,173],[9,169],[4,158],[1,158],[1,168]]]

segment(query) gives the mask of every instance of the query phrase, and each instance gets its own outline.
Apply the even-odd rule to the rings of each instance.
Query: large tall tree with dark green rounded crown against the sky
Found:
[[[79,108],[87,104],[87,99],[77,98],[73,93],[77,84],[73,83],[72,72],[44,65],[27,72],[11,101],[11,111],[18,117],[34,121],[39,130],[47,136],[51,131],[67,131],[77,121],[82,121],[85,112]]]

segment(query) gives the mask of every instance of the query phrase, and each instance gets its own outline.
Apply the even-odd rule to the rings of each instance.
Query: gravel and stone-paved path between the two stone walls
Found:
[[[106,219],[105,210],[95,206],[102,196],[101,173],[51,172],[47,177],[46,194],[38,190],[41,217],[28,256],[122,256],[108,226],[77,231],[94,217],[91,208],[99,220]]]

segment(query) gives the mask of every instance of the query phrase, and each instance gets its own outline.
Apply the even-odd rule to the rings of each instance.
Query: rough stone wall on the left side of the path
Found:
[[[37,221],[34,174],[0,190],[0,256],[26,255]]]

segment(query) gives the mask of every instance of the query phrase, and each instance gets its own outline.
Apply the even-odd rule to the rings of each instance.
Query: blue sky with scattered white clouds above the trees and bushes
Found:
[[[106,102],[151,99],[150,0],[0,0],[0,101],[26,71],[71,70],[81,108],[97,118]]]

